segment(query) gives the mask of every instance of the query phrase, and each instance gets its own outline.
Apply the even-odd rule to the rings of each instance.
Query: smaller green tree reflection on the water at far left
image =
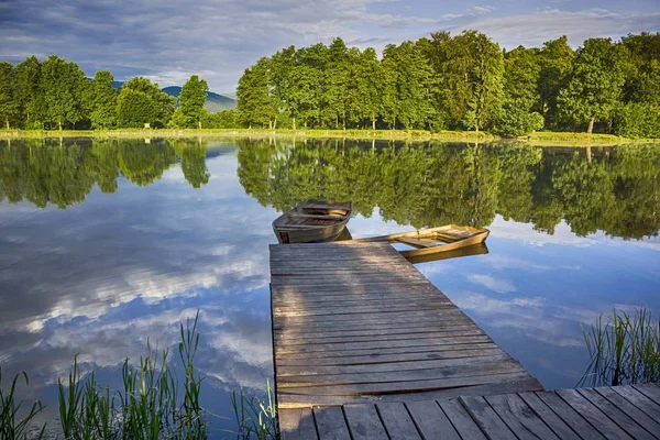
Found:
[[[48,204],[66,209],[82,202],[96,184],[105,194],[118,189],[123,175],[138,186],[150,185],[182,162],[184,176],[195,188],[209,180],[206,147],[185,141],[25,140],[0,142],[0,200]]]

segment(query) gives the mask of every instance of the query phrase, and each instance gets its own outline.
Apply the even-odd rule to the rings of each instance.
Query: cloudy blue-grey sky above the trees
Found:
[[[486,2],[484,2],[486,1]],[[568,35],[619,38],[660,31],[658,0],[0,0],[0,59],[57,54],[88,76],[145,76],[162,87],[190,75],[231,94],[243,70],[279,48],[329,43],[381,51],[436,31],[475,29],[503,47]]]

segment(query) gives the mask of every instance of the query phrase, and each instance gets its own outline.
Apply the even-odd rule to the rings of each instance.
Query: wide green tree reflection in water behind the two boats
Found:
[[[352,200],[416,228],[488,226],[496,215],[553,233],[656,235],[660,147],[540,148],[517,144],[239,141],[245,191],[279,211],[309,198]]]

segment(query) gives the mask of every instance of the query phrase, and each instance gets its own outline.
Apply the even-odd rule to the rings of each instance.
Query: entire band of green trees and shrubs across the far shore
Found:
[[[615,135],[614,142],[660,139],[659,43],[660,33],[641,32],[616,41],[587,38],[574,50],[564,35],[540,47],[508,50],[466,30],[377,52],[337,37],[262,57],[239,79],[235,110],[220,112],[205,108],[210,89],[197,75],[175,97],[148,78],[120,82],[108,70],[91,77],[55,54],[29,56],[15,65],[0,62],[0,127],[158,129],[176,135],[184,129],[286,129],[352,139],[372,139],[371,130],[396,133],[385,139],[497,135],[534,142],[548,141],[540,133],[549,131],[569,133],[551,135],[553,142],[584,141],[578,132],[593,134],[591,142],[604,141],[602,134]]]

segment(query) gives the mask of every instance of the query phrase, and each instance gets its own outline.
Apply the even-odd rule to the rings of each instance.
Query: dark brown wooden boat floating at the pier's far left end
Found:
[[[333,241],[344,231],[353,212],[352,202],[309,200],[273,222],[280,243]]]

